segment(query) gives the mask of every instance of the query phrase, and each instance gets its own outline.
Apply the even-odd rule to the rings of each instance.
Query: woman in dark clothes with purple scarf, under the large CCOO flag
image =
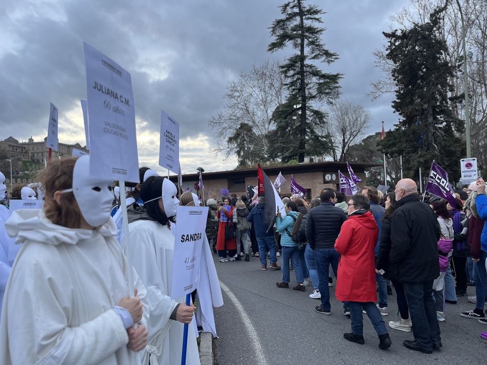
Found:
[[[465,266],[467,265],[467,257],[470,256],[470,247],[467,242],[468,234],[468,219],[463,212],[463,203],[460,199],[455,200],[455,206],[452,207],[447,203],[447,209],[453,216],[453,253],[451,260],[455,269],[456,279],[456,295],[467,295],[467,272]]]

